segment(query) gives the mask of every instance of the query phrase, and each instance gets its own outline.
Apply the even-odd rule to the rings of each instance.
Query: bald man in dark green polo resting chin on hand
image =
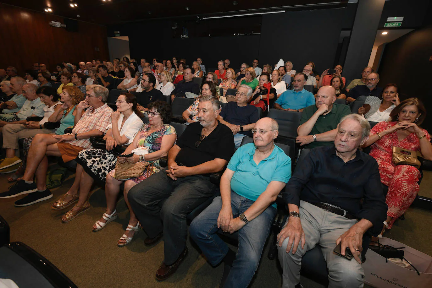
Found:
[[[332,86],[322,86],[318,90],[315,105],[306,107],[302,113],[296,143],[308,149],[334,145],[340,119],[351,114],[348,105],[334,104],[334,101],[336,91]]]

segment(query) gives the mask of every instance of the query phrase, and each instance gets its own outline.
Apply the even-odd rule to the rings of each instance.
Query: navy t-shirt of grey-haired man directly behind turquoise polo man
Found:
[[[258,121],[258,110],[254,105],[246,105],[239,107],[237,102],[228,102],[220,112],[220,117],[226,122],[234,125],[248,125]],[[240,131],[240,134],[252,136],[250,131]]]

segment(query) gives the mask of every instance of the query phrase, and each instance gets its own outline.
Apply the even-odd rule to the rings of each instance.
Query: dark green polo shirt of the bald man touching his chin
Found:
[[[300,119],[300,125],[305,123],[312,115],[318,110],[317,106],[311,105],[305,108],[302,113],[302,118]],[[326,115],[320,115],[318,117],[317,122],[315,122],[314,127],[312,128],[311,133],[309,135],[321,134],[333,129],[336,129],[337,124],[339,124],[340,119],[343,116],[351,114],[351,110],[348,105],[345,104],[333,104],[333,108],[330,113]],[[311,142],[306,145],[305,148],[312,149],[318,146],[331,146],[334,145],[334,141],[329,142]]]

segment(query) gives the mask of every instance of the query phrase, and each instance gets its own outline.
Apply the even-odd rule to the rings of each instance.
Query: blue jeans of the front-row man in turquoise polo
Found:
[[[254,201],[231,191],[233,218],[245,212]],[[218,236],[217,218],[222,208],[221,197],[216,197],[191,223],[192,239],[198,244],[212,266],[220,263],[228,253],[228,246]],[[238,230],[238,252],[232,263],[225,287],[248,287],[260,262],[264,244],[270,232],[276,208],[267,207],[258,217]]]

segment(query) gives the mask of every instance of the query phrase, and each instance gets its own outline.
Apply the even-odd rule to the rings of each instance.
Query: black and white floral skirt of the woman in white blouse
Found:
[[[105,185],[105,178],[115,168],[117,157],[102,149],[86,149],[79,152],[76,162],[83,166],[84,171],[96,182]]]

